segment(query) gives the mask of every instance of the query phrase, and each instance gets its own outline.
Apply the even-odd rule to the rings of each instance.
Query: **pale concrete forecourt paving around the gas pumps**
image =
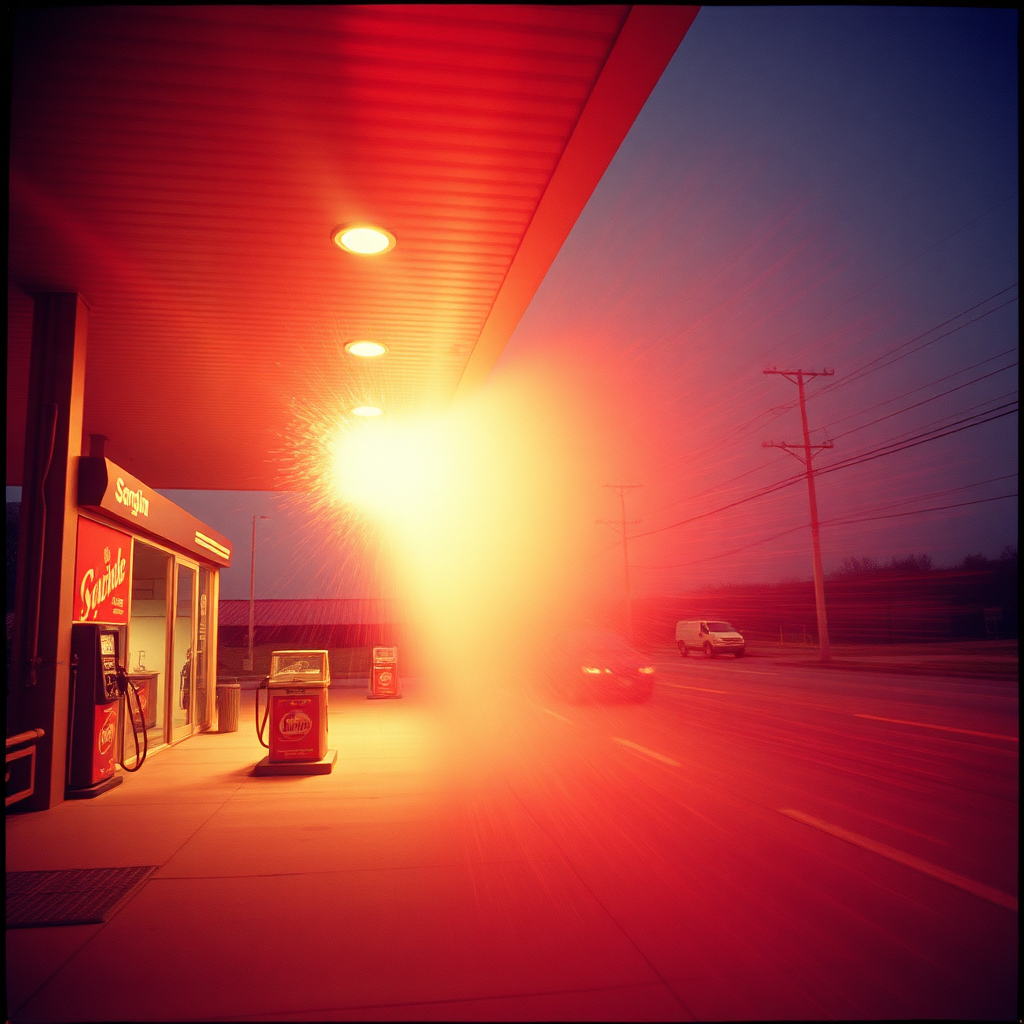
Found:
[[[253,697],[239,732],[8,816],[8,871],[157,866],[103,925],[7,933],[10,1021],[686,1018],[485,729],[332,689],[334,772],[257,778]]]

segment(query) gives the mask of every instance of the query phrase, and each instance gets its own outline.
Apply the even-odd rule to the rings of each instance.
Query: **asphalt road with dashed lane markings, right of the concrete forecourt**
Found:
[[[1016,682],[656,665],[640,706],[510,689],[492,735],[695,1019],[1018,1017]]]

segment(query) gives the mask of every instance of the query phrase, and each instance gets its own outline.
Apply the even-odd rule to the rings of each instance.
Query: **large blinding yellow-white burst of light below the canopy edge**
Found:
[[[613,415],[610,379],[530,364],[430,415],[401,412],[387,381],[367,394],[384,418],[327,390],[296,404],[294,489],[325,564],[369,566],[357,581],[342,568],[343,586],[397,599],[418,669],[458,707],[490,714],[499,690],[541,678],[554,638],[621,603],[622,546],[595,516],[626,471],[609,453],[642,421]]]

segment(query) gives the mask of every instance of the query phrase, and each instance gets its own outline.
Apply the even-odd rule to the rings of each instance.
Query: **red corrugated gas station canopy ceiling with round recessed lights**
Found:
[[[478,386],[695,13],[16,10],[7,483],[40,292],[87,303],[84,433],[155,487],[280,489],[296,410]]]

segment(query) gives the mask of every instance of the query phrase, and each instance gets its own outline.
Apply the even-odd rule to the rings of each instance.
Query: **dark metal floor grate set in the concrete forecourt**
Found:
[[[94,867],[69,871],[7,873],[7,928],[101,925],[156,870]]]

